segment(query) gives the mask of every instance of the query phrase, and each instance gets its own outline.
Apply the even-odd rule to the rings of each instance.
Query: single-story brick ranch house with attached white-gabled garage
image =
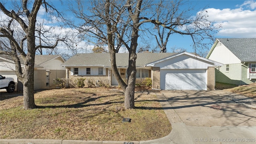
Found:
[[[116,53],[120,76],[127,81],[128,53]],[[86,78],[118,85],[110,65],[109,54],[76,54],[61,66],[67,68],[67,78]],[[188,52],[138,53],[136,80],[152,78],[153,89],[165,90],[214,90],[214,67],[221,63]]]

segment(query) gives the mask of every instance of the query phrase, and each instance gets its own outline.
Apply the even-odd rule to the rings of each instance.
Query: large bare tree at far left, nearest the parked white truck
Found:
[[[35,0],[34,2],[22,0],[21,4],[13,1],[12,4],[17,6],[16,11],[7,10],[5,4],[0,2],[0,10],[4,13],[0,22],[0,37],[2,37],[0,54],[12,56],[15,62],[16,75],[23,84],[24,109],[36,108],[34,103],[34,58],[36,50],[39,48],[53,49],[58,42],[64,39],[55,36],[53,44],[42,43],[47,39],[40,38],[35,34],[36,31],[40,30],[36,28],[36,17],[39,9],[42,8],[41,6],[44,6],[46,12],[49,13],[56,10],[45,0]],[[60,13],[57,12],[57,14],[60,18]],[[24,61],[24,68],[21,66],[21,61]]]

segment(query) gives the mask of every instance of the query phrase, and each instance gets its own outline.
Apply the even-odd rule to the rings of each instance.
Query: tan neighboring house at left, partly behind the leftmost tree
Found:
[[[60,55],[36,55],[34,66],[34,89],[54,86],[53,79],[64,78],[66,69],[60,65],[65,62]],[[24,62],[21,61],[24,68]],[[15,71],[15,64],[12,57],[0,55],[0,74],[12,77],[15,80],[15,90],[22,91],[23,85],[18,80]]]

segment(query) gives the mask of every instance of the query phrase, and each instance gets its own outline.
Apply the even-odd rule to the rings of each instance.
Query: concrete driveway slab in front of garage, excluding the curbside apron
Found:
[[[162,94],[186,126],[256,126],[256,110],[233,101],[232,93],[165,90]]]

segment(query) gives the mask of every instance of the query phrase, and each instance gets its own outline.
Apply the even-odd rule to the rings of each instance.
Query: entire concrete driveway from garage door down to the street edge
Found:
[[[256,110],[223,90],[164,90],[158,95],[172,132],[140,144],[255,144]],[[236,97],[236,98],[234,98]],[[252,102],[255,103],[255,102]]]

